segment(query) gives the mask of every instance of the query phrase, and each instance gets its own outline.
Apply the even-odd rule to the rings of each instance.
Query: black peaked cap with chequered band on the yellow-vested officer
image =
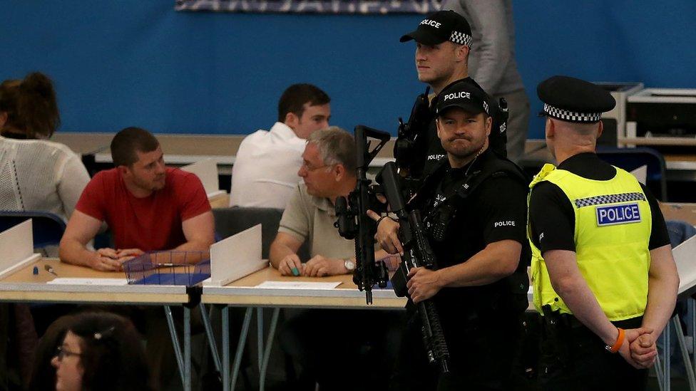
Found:
[[[568,76],[543,80],[537,86],[536,94],[544,104],[539,115],[567,122],[598,122],[602,113],[616,105],[608,90]]]

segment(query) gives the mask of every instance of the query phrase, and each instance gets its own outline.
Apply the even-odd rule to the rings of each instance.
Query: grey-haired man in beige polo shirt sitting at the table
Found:
[[[342,238],[334,227],[334,202],[355,188],[355,142],[339,127],[318,130],[307,138],[297,184],[280,220],[270,248],[271,264],[284,276],[335,276],[355,269],[354,241]],[[310,259],[297,255],[309,244]],[[379,250],[375,259],[387,253]]]

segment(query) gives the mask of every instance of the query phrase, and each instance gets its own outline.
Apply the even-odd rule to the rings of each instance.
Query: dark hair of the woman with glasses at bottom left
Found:
[[[81,338],[83,390],[151,390],[145,350],[131,320],[108,312],[81,313],[68,330]]]

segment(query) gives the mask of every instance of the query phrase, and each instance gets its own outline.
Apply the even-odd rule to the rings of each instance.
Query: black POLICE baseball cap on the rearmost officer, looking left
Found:
[[[471,48],[471,26],[464,16],[454,11],[437,11],[423,19],[415,31],[402,36],[399,41],[416,40],[424,45],[437,45],[451,41]]]

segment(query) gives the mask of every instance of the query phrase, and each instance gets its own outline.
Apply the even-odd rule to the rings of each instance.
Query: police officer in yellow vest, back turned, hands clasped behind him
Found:
[[[542,389],[645,389],[679,286],[665,220],[633,175],[595,155],[607,91],[554,76],[537,93],[558,163],[529,196]]]

